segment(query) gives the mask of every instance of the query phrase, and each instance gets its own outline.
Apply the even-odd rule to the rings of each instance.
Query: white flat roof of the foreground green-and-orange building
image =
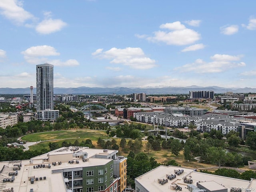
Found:
[[[68,168],[82,170],[83,167],[107,164],[112,159],[125,159],[116,156],[117,152],[117,150],[70,146],[30,160],[0,162],[0,191],[13,188],[14,192],[28,192],[33,188],[36,192],[66,192],[61,170]],[[12,176],[15,179],[9,182]],[[34,183],[31,183],[31,178],[34,179]],[[4,179],[9,181],[3,182]]]

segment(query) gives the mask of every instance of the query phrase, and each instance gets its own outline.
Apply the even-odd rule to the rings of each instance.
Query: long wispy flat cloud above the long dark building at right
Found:
[[[194,63],[175,68],[175,70],[180,70],[181,72],[194,71],[196,73],[218,73],[231,68],[246,66],[244,62],[233,62],[240,60],[241,58],[242,56],[215,54],[210,57],[212,62],[205,62],[202,59],[197,59]]]

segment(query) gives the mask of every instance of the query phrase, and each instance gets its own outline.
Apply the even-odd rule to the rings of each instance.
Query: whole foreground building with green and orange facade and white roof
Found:
[[[117,153],[70,146],[30,160],[0,162],[0,191],[123,192],[127,158]]]

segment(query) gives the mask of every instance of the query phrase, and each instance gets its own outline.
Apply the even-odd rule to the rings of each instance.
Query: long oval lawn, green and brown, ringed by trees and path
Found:
[[[67,139],[67,138],[99,138],[106,137],[105,131],[98,130],[62,130],[62,131],[49,131],[35,134],[28,134],[23,136],[21,139],[25,141],[45,141],[45,140],[56,140],[56,139]]]

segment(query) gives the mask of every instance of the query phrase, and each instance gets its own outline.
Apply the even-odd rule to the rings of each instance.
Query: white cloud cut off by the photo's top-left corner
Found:
[[[23,24],[34,16],[22,8],[22,1],[0,0],[1,14],[16,24]]]

